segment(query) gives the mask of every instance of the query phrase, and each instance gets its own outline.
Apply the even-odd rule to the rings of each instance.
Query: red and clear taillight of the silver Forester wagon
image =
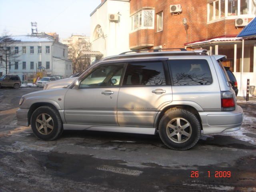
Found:
[[[221,108],[222,111],[235,110],[236,104],[232,92],[222,91],[221,92]]]

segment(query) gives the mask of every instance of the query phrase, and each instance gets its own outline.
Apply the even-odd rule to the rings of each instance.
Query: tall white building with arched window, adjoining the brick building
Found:
[[[102,0],[90,17],[92,51],[99,51],[104,57],[130,51],[129,0]]]

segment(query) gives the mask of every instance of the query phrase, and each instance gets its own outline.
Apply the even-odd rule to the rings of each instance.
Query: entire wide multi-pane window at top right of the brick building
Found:
[[[255,0],[215,0],[208,3],[208,21],[225,17],[225,2],[228,8],[226,16],[256,14]]]

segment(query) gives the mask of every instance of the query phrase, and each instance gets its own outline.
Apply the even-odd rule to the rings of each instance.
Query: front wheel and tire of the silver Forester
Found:
[[[55,140],[63,132],[60,114],[50,106],[37,108],[31,116],[30,124],[34,135],[44,141]]]

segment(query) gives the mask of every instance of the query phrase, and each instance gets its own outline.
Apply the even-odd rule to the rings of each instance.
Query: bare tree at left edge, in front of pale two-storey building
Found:
[[[15,40],[4,30],[0,37],[0,68],[4,69],[6,74],[8,71],[8,62],[18,61],[18,54],[14,49]]]

